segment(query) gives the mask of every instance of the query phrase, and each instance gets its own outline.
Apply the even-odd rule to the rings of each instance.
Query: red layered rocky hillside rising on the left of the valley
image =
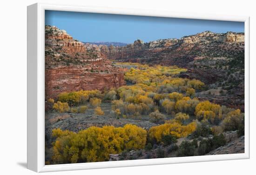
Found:
[[[125,84],[124,72],[101,52],[88,51],[56,26],[45,27],[46,99],[61,92],[104,90]]]

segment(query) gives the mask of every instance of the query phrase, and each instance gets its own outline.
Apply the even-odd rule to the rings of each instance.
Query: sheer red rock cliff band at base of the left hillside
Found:
[[[61,92],[105,90],[125,85],[123,72],[91,73],[82,66],[59,66],[45,71],[46,99]]]

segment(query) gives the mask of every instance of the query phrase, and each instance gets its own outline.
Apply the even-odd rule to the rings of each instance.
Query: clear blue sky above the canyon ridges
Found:
[[[84,42],[133,43],[136,39],[180,39],[204,31],[244,32],[243,22],[64,11],[46,11],[45,24],[66,30],[74,39]]]

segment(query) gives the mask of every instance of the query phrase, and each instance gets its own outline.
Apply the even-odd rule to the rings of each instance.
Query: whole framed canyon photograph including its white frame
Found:
[[[27,168],[249,158],[249,17],[27,7]]]

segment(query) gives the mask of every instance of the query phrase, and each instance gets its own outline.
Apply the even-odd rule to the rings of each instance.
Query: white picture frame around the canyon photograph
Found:
[[[245,35],[245,149],[244,153],[126,160],[115,162],[89,162],[45,165],[45,10],[110,13],[140,16],[172,17],[185,19],[210,19],[244,22]],[[249,17],[233,15],[208,15],[198,13],[173,13],[126,8],[63,6],[33,4],[27,6],[27,168],[35,172],[78,169],[99,169],[143,166],[169,163],[220,161],[249,158]]]

